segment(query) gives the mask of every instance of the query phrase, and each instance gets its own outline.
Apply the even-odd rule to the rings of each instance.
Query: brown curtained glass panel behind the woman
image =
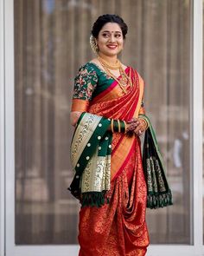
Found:
[[[94,55],[99,15],[118,14],[129,32],[120,56],[145,82],[174,206],[148,210],[151,244],[193,243],[191,0],[16,0],[16,245],[77,244],[69,112],[73,78]]]

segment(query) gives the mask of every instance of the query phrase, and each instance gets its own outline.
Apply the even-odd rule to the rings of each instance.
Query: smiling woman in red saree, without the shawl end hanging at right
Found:
[[[80,199],[80,256],[145,255],[147,186],[139,136],[149,126],[143,79],[118,60],[127,25],[99,16],[90,43],[97,57],[75,78],[69,189]]]

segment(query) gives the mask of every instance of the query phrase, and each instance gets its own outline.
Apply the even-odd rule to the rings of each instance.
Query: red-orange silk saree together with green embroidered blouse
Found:
[[[94,63],[80,69],[75,80],[72,111],[129,121],[143,114],[143,79],[128,67],[132,86],[127,93]],[[118,77],[119,78],[119,77]],[[80,256],[145,255],[149,235],[145,221],[147,187],[137,135],[112,135],[109,203],[81,207]]]

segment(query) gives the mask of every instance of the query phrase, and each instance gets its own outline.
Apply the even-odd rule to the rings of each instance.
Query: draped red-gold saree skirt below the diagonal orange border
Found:
[[[122,174],[112,181],[110,203],[80,210],[80,256],[145,255],[146,184],[139,139]]]

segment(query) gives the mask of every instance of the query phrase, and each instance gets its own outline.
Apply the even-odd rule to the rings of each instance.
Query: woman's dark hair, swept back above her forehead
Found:
[[[124,23],[124,20],[120,16],[114,14],[105,14],[99,16],[96,22],[92,25],[92,36],[97,38],[99,36],[99,31],[103,28],[105,23],[118,23],[120,29],[122,30],[123,37],[125,38],[128,31],[128,26],[126,23]]]

